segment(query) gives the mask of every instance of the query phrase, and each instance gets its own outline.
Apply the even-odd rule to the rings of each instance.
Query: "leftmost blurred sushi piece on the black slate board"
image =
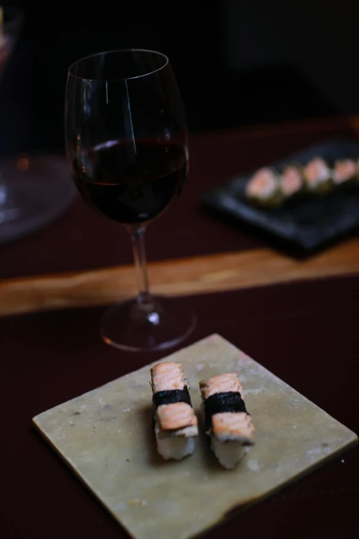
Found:
[[[270,167],[259,169],[246,185],[246,197],[260,206],[279,206],[283,201],[283,195],[276,171]]]

